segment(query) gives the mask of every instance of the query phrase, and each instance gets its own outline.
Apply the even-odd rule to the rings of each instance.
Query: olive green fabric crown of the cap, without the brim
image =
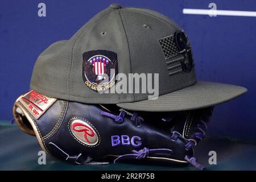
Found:
[[[109,7],[71,39],[53,43],[38,57],[31,88],[50,97],[93,104],[148,99],[148,93],[100,94],[86,86],[83,54],[97,50],[116,53],[118,73],[159,73],[159,95],[192,85],[195,69],[184,68],[184,53],[175,43],[177,31],[181,28],[176,23],[155,11]],[[192,63],[191,51],[185,56]]]

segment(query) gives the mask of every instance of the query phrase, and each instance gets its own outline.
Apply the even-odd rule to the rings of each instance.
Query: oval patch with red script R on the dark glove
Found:
[[[98,135],[88,121],[74,119],[70,124],[70,129],[81,143],[88,146],[94,146],[98,143]]]

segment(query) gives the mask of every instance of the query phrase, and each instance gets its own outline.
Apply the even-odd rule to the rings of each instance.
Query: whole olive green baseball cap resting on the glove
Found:
[[[175,22],[152,10],[112,4],[71,39],[53,43],[39,55],[31,89],[62,100],[142,111],[198,109],[246,93],[241,86],[197,81],[196,62],[187,35]],[[98,92],[114,88],[119,73],[158,73],[158,98],[150,100],[151,93],[136,93],[135,88]]]

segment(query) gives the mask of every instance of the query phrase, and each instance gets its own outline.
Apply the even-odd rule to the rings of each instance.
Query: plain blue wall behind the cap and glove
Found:
[[[38,3],[47,16],[38,16]],[[245,86],[249,92],[216,106],[209,135],[256,139],[256,17],[184,15],[183,8],[256,11],[256,1],[13,1],[0,2],[0,120],[12,118],[13,103],[29,89],[32,68],[49,44],[69,39],[110,3],[167,15],[187,32],[199,80]]]

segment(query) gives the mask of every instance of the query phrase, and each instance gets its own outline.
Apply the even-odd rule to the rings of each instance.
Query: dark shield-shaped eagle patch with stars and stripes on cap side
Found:
[[[115,84],[117,53],[105,50],[88,51],[82,55],[82,78],[94,91],[107,90]]]

